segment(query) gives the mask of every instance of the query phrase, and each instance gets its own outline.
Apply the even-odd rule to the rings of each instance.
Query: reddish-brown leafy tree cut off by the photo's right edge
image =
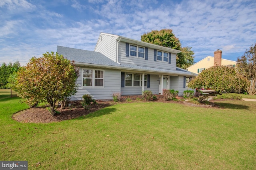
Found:
[[[237,65],[239,71],[250,80],[251,84],[246,88],[248,94],[256,94],[256,43],[246,50],[244,55],[238,57]]]

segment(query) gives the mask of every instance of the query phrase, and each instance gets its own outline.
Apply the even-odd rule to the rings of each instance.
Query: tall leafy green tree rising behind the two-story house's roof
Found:
[[[182,47],[180,40],[174,35],[172,29],[152,30],[151,32],[144,33],[141,36],[141,41],[181,50],[182,52],[178,53],[176,60],[176,66],[180,68],[186,69],[194,64],[192,47]]]

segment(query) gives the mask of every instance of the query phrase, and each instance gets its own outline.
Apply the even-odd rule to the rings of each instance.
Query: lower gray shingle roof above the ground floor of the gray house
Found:
[[[96,64],[101,66],[109,66],[114,68],[127,69],[127,70],[141,70],[141,71],[149,71],[149,72],[161,72],[166,74],[182,74],[187,76],[196,76],[192,72],[188,70],[184,70],[182,68],[176,67],[176,70],[169,70],[169,69],[162,69],[162,68],[154,68],[154,67],[147,67],[147,66],[139,66],[136,64],[118,64],[102,53],[95,52],[95,51],[87,51],[81,49],[74,49],[69,47],[62,47],[57,46],[57,52],[62,54],[64,57],[69,59],[70,61],[75,61],[77,63],[84,63],[84,64]]]

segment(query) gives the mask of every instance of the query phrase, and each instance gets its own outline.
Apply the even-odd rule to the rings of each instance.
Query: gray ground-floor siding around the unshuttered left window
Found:
[[[88,67],[86,67],[88,68]],[[97,68],[92,68],[97,69]],[[78,92],[76,95],[71,96],[71,100],[82,100],[84,94],[92,95],[96,100],[106,100],[113,99],[113,92],[120,93],[120,84],[121,84],[121,72],[120,70],[110,70],[110,69],[101,69],[104,70],[104,87],[82,87],[82,68],[80,70],[80,77],[78,77],[76,84],[78,84]]]

